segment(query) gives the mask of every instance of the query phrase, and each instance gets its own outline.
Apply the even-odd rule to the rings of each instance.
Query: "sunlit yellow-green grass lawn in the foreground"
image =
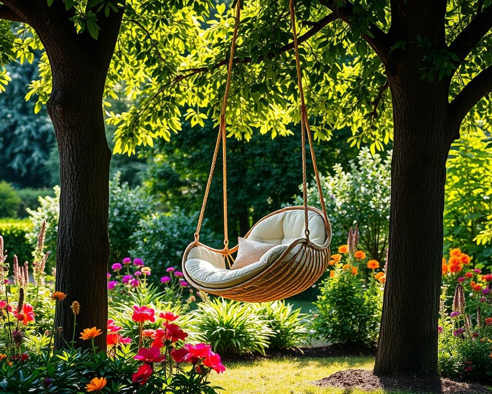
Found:
[[[232,394],[368,394],[368,391],[328,389],[309,382],[343,369],[371,369],[372,357],[278,358],[224,362],[226,372],[210,374],[214,385]],[[408,391],[371,391],[371,394],[413,394]]]

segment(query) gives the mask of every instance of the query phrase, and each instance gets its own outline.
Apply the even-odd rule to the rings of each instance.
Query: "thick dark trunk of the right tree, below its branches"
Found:
[[[420,81],[419,72],[399,73],[389,77],[394,120],[389,254],[374,373],[437,377],[445,164],[451,143],[447,88]]]

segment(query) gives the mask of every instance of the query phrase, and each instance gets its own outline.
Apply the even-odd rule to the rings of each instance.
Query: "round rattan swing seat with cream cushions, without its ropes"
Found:
[[[260,219],[245,239],[272,245],[261,258],[237,269],[226,268],[238,246],[214,249],[192,242],[183,254],[183,273],[195,288],[237,301],[281,300],[311,287],[330,257],[331,227],[322,212],[308,207],[282,208]]]

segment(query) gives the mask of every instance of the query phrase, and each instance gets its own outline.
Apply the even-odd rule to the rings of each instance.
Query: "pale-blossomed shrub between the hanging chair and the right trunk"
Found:
[[[332,245],[344,244],[346,232],[357,223],[361,247],[373,259],[382,261],[388,242],[391,151],[383,159],[362,148],[348,171],[341,164],[333,170],[333,175],[321,177],[326,211],[332,223]],[[295,202],[302,204],[302,197]],[[308,203],[320,206],[316,185],[308,190]]]

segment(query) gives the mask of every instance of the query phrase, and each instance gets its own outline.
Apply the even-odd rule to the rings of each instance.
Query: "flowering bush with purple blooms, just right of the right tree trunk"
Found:
[[[444,377],[492,383],[492,275],[475,312],[467,313],[463,284],[456,285],[450,307],[446,297],[439,320],[439,369]],[[471,279],[471,277],[469,278]],[[464,281],[462,281],[464,283]],[[470,293],[474,295],[473,292]]]

